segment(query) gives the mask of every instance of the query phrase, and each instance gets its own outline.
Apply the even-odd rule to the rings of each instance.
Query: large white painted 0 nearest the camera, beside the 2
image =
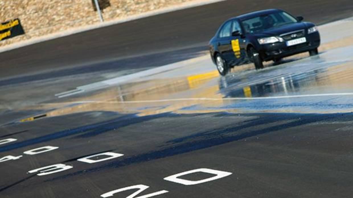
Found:
[[[214,174],[215,176],[210,177],[210,178],[206,178],[206,179],[197,180],[197,181],[191,181],[191,180],[187,180],[187,179],[178,178],[178,177],[181,177],[183,175],[188,175],[188,174],[197,173],[197,172],[210,173],[210,174]],[[172,181],[172,182],[175,182],[175,183],[178,183],[178,184],[184,184],[184,185],[195,185],[195,184],[201,184],[201,183],[213,181],[213,180],[216,180],[216,179],[221,179],[221,178],[227,177],[228,175],[231,175],[231,174],[232,173],[225,172],[225,171],[217,171],[217,170],[213,170],[213,169],[209,169],[209,168],[199,168],[199,169],[195,169],[195,170],[186,171],[186,172],[178,173],[178,174],[175,174],[175,175],[171,175],[169,177],[164,178],[164,180]]]

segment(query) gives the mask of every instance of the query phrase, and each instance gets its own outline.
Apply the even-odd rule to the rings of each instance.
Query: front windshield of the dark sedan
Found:
[[[276,12],[243,20],[242,24],[246,33],[255,33],[297,22],[297,19],[286,12]]]

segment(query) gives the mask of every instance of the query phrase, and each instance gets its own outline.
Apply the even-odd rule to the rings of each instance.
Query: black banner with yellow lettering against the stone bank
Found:
[[[0,41],[24,34],[19,19],[6,21],[0,24]]]

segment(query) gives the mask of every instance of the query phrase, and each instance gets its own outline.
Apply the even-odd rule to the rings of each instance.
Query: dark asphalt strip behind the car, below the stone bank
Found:
[[[353,15],[351,0],[224,1],[0,53],[0,80],[25,75],[24,79],[15,78],[11,82],[28,82],[38,78],[34,75],[38,72],[43,73],[39,76],[43,79],[53,75],[53,71],[54,75],[62,76],[101,69],[149,68],[177,62],[195,56],[195,52],[207,49],[205,46],[209,39],[224,20],[241,13],[266,8],[282,8],[317,24]],[[189,50],[174,53],[181,48]],[[8,83],[1,81],[1,84]]]

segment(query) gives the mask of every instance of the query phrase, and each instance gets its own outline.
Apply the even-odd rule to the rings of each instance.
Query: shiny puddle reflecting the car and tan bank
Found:
[[[217,71],[213,71],[182,78],[128,83],[60,103],[41,104],[36,108],[55,109],[46,112],[47,117],[85,111],[115,111],[145,116],[165,112],[332,113],[353,110],[350,102],[353,95],[244,100],[353,92],[352,61],[329,61],[325,55],[287,64],[226,77],[219,77]]]

